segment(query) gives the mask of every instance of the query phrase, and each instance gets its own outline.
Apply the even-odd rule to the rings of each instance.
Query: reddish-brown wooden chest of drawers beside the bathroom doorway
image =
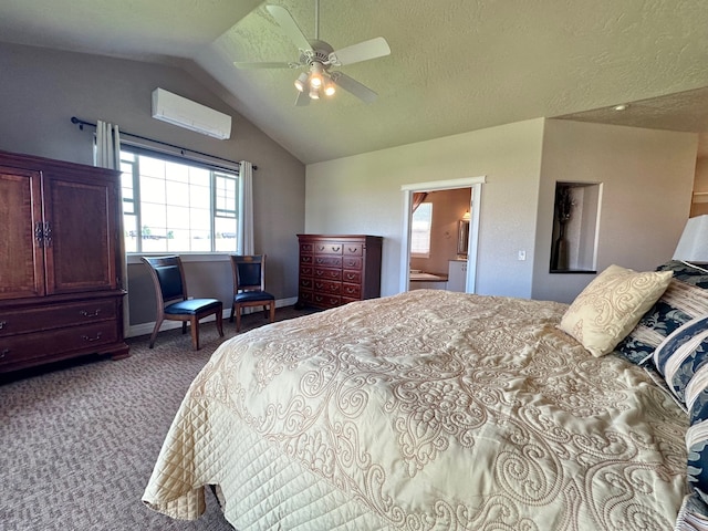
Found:
[[[298,306],[334,308],[381,294],[379,236],[298,235]]]

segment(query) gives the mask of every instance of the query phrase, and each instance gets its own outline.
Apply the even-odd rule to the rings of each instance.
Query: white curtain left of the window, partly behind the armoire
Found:
[[[96,148],[93,155],[93,165],[102,168],[110,169],[121,169],[121,132],[118,131],[117,125],[110,124],[107,122],[103,122],[102,119],[96,121]],[[123,257],[123,262],[121,264],[121,279],[123,279],[123,285],[119,288],[125,291],[128,290],[128,264],[127,257],[125,253],[125,238],[123,237],[123,194],[122,187],[118,186],[118,205],[119,205],[119,216],[118,216],[118,251]],[[127,299],[123,300],[123,335],[127,336],[128,330],[131,327],[131,315],[128,312],[128,301]]]

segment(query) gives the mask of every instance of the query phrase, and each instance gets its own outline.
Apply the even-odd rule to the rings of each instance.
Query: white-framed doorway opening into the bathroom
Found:
[[[402,186],[402,292],[426,288],[475,293],[481,185],[485,181],[485,177],[472,177]],[[424,218],[433,210],[429,222],[436,223],[429,231],[427,248],[425,235],[423,239],[420,235],[420,210],[414,216],[417,202],[426,204],[421,210]]]

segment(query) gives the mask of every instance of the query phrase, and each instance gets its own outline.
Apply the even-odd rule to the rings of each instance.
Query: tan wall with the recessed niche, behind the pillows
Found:
[[[551,274],[556,181],[601,183],[596,269],[669,260],[690,208],[697,135],[549,119],[535,240],[534,299],[570,302],[592,274]]]

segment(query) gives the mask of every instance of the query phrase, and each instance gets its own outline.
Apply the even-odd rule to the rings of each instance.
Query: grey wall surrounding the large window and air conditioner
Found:
[[[256,251],[266,252],[267,288],[277,299],[298,293],[298,241],[304,228],[305,168],[280,145],[236,113],[197,79],[178,67],[0,44],[0,149],[92,164],[93,129],[70,118],[102,118],[124,132],[176,144],[230,160],[251,160]],[[150,116],[152,92],[163,87],[233,117],[232,136],[217,140]],[[226,263],[226,266],[225,266]],[[191,293],[219,296],[230,306],[228,262],[190,264]],[[128,268],[133,325],[154,320],[152,287],[142,264]],[[202,279],[204,277],[204,279]],[[188,279],[189,281],[189,279]]]

